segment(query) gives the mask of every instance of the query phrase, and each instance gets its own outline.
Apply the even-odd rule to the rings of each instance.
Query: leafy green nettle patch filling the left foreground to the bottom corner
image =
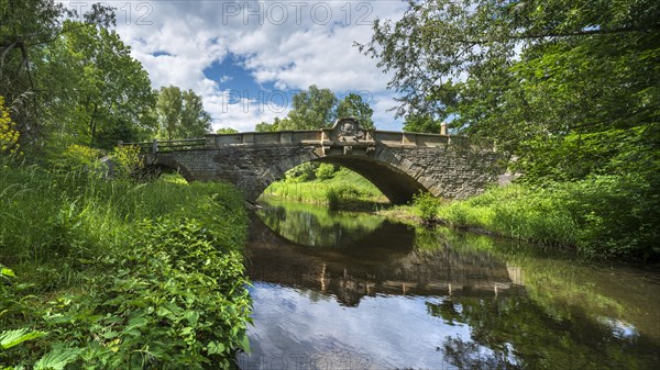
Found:
[[[122,254],[102,258],[98,268],[112,277],[90,276],[84,291],[48,302],[36,325],[47,333],[0,333],[0,365],[21,359],[0,369],[230,368],[250,349],[252,301],[240,251],[191,218],[160,217],[139,229]],[[2,267],[2,279],[12,277]],[[4,307],[13,295],[1,287]],[[25,341],[44,336],[26,350]]]

